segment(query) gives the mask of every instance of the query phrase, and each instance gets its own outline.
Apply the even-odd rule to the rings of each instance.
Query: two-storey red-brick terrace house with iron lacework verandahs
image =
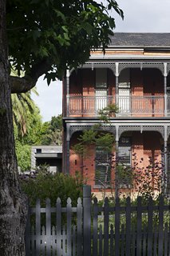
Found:
[[[107,169],[100,164],[102,152],[91,146],[83,159],[72,146],[83,130],[100,122],[98,110],[115,103],[119,111],[102,130],[114,134],[118,158],[133,166],[135,155],[142,170],[149,159],[162,162],[168,174],[170,34],[115,33],[105,54],[92,51],[83,66],[67,70],[63,91],[65,173],[80,171],[93,192],[99,190]]]

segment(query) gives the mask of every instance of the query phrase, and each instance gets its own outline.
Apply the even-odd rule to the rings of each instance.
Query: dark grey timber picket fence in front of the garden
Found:
[[[104,206],[91,199],[90,186],[84,186],[83,200],[67,205],[41,207],[40,201],[30,208],[26,227],[26,255],[57,256],[135,256],[170,255],[170,206],[164,198],[156,206],[152,198],[136,205],[119,199],[113,206],[105,198]]]

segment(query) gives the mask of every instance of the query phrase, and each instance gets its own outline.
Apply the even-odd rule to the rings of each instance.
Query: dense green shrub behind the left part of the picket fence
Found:
[[[83,181],[78,174],[71,177],[62,173],[49,173],[46,168],[42,168],[34,174],[21,175],[21,184],[30,206],[35,206],[37,198],[43,207],[46,198],[50,199],[52,206],[55,206],[57,198],[61,198],[62,206],[66,206],[67,198],[71,198],[73,206],[76,206],[77,198],[82,197]]]

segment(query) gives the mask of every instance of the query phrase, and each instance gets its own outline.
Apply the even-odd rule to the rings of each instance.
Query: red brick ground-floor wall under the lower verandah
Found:
[[[77,136],[80,136],[80,133],[73,134],[71,146],[78,142]],[[162,146],[160,141],[161,136],[157,132],[144,131],[142,134],[140,132],[132,132],[132,166],[136,166],[136,171],[143,174],[146,172],[146,168],[149,165],[149,157],[156,159],[157,162],[161,161]],[[88,154],[84,160],[75,154],[73,150],[70,150],[69,160],[69,173],[75,175],[76,171],[80,172],[85,182],[92,186],[92,190],[94,192],[99,191],[99,189],[93,187],[95,185],[95,147],[89,146]],[[114,168],[112,168],[112,181],[114,181]],[[122,190],[122,193],[125,191],[127,190]]]

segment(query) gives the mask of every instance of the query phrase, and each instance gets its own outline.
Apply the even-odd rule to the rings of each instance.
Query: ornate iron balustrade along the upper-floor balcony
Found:
[[[164,96],[119,96],[118,117],[164,117],[170,114],[170,96],[167,97],[166,110]],[[116,102],[115,96],[69,96],[67,98],[69,117],[97,117],[98,111]]]

